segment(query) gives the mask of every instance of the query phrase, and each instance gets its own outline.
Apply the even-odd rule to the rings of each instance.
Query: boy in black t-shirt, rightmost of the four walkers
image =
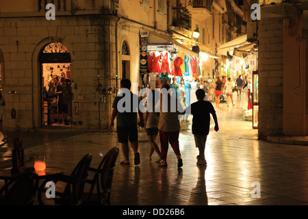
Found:
[[[194,142],[199,150],[197,158],[197,165],[206,165],[205,160],[205,142],[207,135],[209,134],[209,121],[211,114],[215,121],[214,130],[218,131],[218,120],[213,105],[209,101],[203,101],[205,98],[205,92],[203,89],[196,90],[197,102],[190,105],[190,111],[192,118],[192,133],[194,134]],[[186,110],[185,110],[186,111]]]

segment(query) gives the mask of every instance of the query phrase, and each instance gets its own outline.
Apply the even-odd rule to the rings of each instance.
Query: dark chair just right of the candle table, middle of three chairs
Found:
[[[57,188],[56,183],[65,183],[64,192],[55,190],[55,198],[53,198],[55,205],[80,205],[82,203],[84,186],[88,178],[88,168],[91,161],[92,155],[87,154],[80,160],[70,176],[61,175],[60,177],[55,177],[55,179],[46,179],[38,190],[38,201],[40,205],[45,205],[44,201],[42,201],[42,196],[46,196],[45,192],[47,189],[44,186],[48,181],[53,181],[55,188]]]

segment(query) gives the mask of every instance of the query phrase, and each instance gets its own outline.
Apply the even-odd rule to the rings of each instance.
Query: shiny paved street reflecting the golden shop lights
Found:
[[[257,140],[257,130],[252,129],[251,121],[243,120],[239,105],[235,96],[235,107],[222,103],[216,109],[220,130],[214,131],[212,120],[205,149],[207,166],[196,166],[192,118],[190,123],[181,123],[182,168],[177,168],[171,147],[168,168],[155,163],[155,154],[147,159],[149,143],[145,131],[140,130],[141,162],[133,165],[130,148],[131,165],[120,166],[124,159],[120,149],[112,205],[308,205],[308,147]],[[33,138],[40,138],[38,133],[33,132]],[[35,153],[44,153],[47,166],[65,168],[70,175],[86,153],[92,154],[91,166],[97,167],[102,155],[114,146],[120,148],[116,133],[62,133],[63,138],[57,138],[54,131],[46,135],[46,141],[25,149],[27,166],[33,166]]]

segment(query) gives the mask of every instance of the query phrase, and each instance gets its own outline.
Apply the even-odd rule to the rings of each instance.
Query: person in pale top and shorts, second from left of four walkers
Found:
[[[157,146],[155,139],[158,134],[158,123],[159,123],[159,112],[155,110],[155,106],[157,105],[157,102],[159,101],[159,92],[157,90],[151,91],[151,102],[148,102],[148,109],[152,109],[152,112],[149,112],[149,110],[146,110],[145,116],[144,116],[144,129],[146,130],[146,137],[149,140],[149,143],[151,145],[148,158],[151,160],[151,157],[154,153],[154,151],[158,155],[157,162],[160,162],[162,160],[161,153],[159,151],[159,147]],[[157,98],[158,96],[158,98]]]

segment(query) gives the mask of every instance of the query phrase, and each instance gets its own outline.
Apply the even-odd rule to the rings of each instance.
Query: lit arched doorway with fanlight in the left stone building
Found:
[[[68,126],[73,114],[70,51],[51,42],[40,51],[39,62],[42,126]]]

